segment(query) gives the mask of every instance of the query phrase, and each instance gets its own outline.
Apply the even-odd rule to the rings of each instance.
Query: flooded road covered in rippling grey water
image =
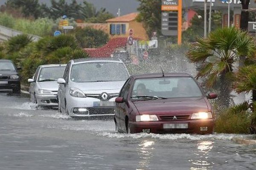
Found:
[[[256,170],[256,146],[231,134],[119,134],[0,94],[0,170]]]

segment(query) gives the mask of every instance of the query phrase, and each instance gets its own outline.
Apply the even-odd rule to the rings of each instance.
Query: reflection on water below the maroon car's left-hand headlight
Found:
[[[136,170],[146,170],[149,167],[154,150],[154,141],[144,140],[137,147],[137,153],[140,156],[138,168]]]

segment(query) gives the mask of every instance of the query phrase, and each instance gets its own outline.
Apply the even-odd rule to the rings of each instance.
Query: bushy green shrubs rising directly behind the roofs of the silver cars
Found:
[[[31,78],[36,68],[43,64],[65,64],[70,59],[87,57],[87,53],[78,47],[71,35],[45,37],[38,42],[32,42],[20,51],[23,58],[21,77],[23,83]],[[29,56],[29,57],[26,57]]]

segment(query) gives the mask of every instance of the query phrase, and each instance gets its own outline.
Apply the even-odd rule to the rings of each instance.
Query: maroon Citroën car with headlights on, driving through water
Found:
[[[116,131],[123,133],[211,134],[214,114],[208,99],[189,74],[131,76],[116,98]]]

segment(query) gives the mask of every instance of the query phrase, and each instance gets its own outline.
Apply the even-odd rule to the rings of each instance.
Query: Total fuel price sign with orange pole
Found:
[[[178,36],[181,44],[182,0],[162,0],[161,32],[167,36]]]

